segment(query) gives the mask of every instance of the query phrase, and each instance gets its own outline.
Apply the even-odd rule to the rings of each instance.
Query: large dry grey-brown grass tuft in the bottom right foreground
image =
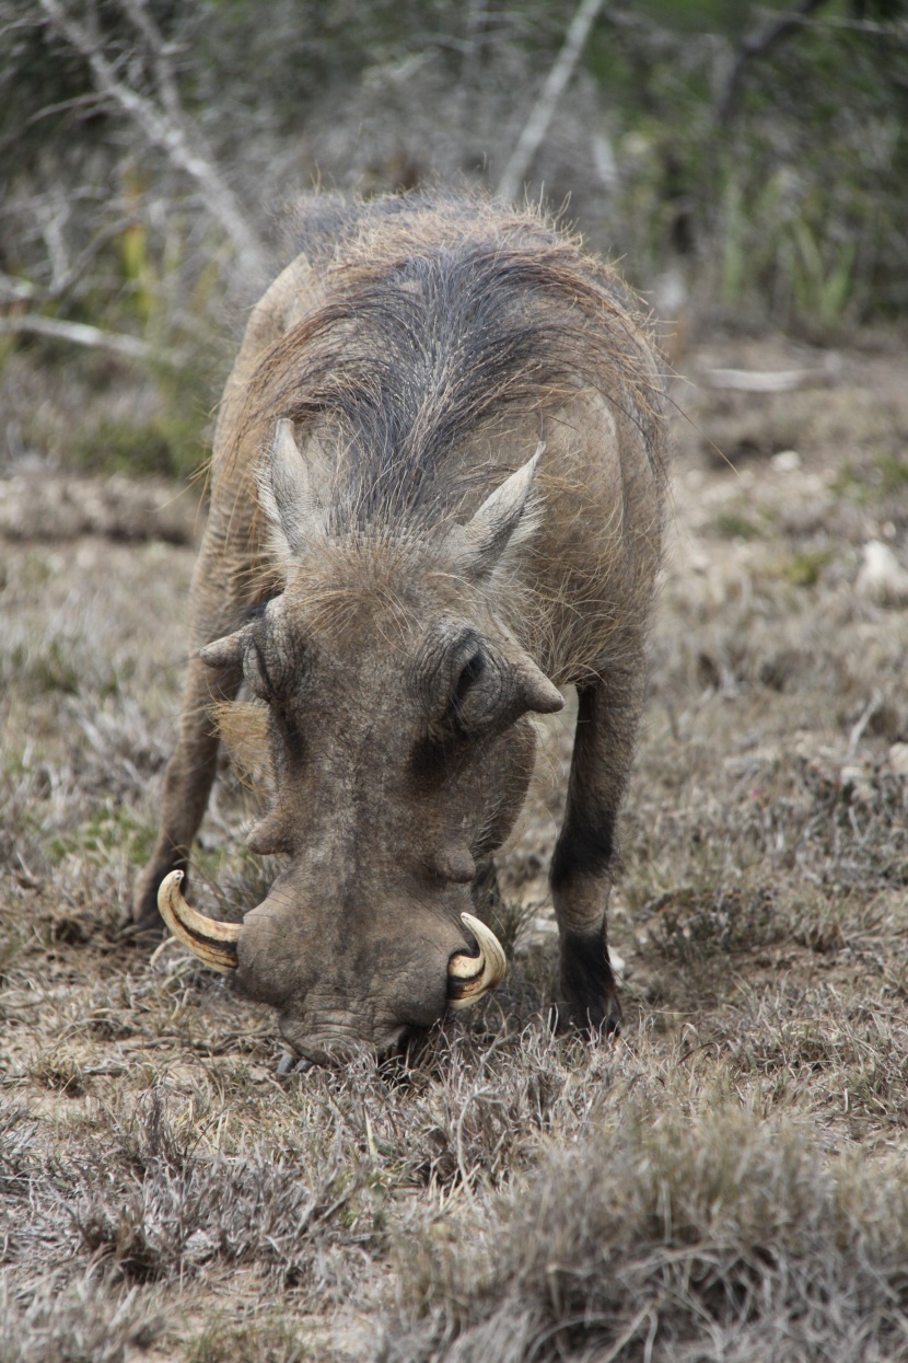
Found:
[[[897,1358],[908,1178],[728,1100],[632,1101],[455,1247],[402,1259],[395,1363]]]

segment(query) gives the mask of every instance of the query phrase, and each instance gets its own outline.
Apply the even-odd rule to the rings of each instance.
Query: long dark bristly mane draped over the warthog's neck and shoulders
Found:
[[[640,318],[576,243],[531,214],[502,222],[463,199],[395,214],[380,200],[335,228],[327,297],[268,352],[256,403],[289,416],[301,440],[316,424],[323,444],[329,433],[329,532],[432,529],[463,492],[445,462],[483,421],[557,403],[580,383],[652,446]]]

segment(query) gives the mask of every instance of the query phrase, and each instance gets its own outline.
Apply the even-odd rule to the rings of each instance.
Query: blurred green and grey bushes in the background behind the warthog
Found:
[[[574,11],[0,0],[0,323],[57,360],[34,318],[140,338],[176,413],[76,462],[197,462],[244,309],[290,254],[283,206],[494,191]],[[550,113],[527,195],[658,313],[826,339],[908,308],[908,0],[603,3]]]

